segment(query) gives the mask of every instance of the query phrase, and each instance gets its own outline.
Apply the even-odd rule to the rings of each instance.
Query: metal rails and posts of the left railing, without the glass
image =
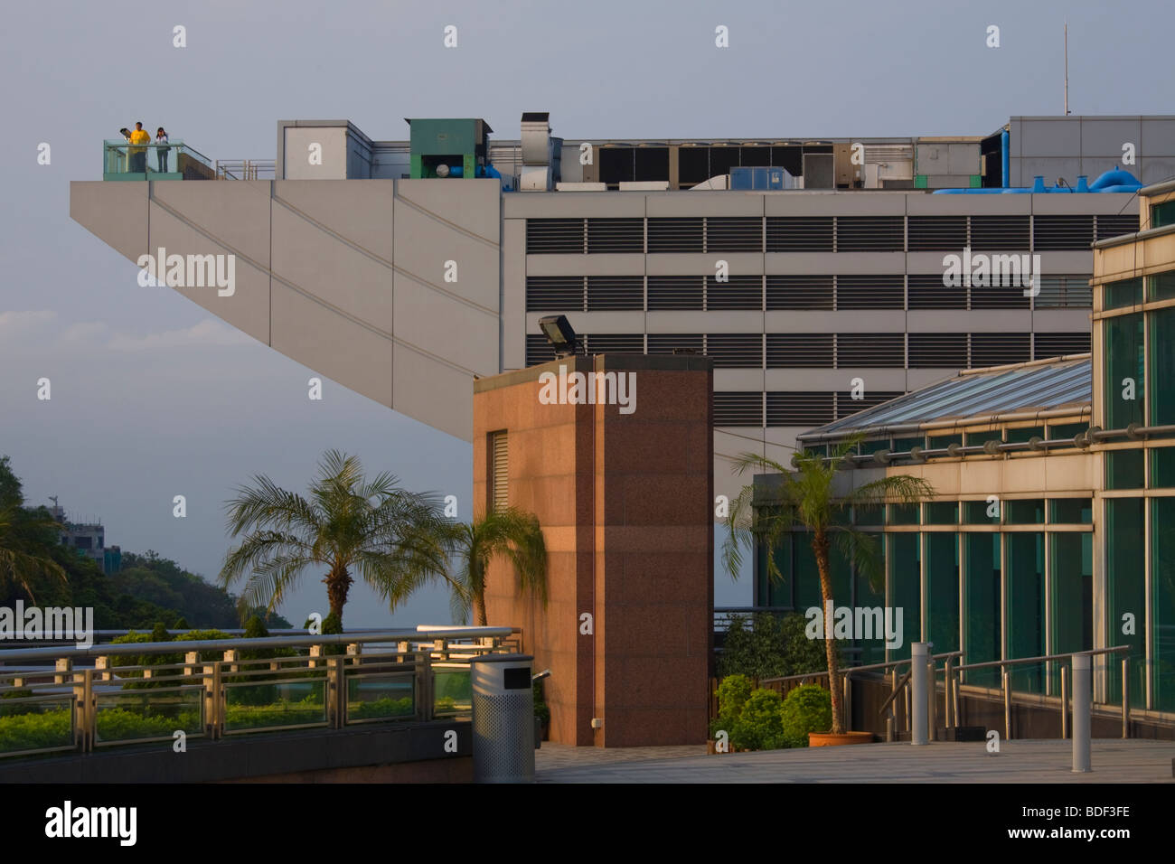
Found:
[[[99,737],[102,714],[101,704],[121,706],[126,701],[134,703],[163,702],[172,704],[173,696],[181,692],[199,692],[199,731],[190,729],[193,735],[200,735],[216,742],[226,735],[239,732],[280,731],[283,729],[308,729],[313,726],[331,730],[342,729],[351,723],[372,722],[410,722],[429,721],[434,717],[459,717],[468,715],[470,705],[459,698],[452,708],[436,704],[436,686],[434,676],[439,669],[468,669],[470,659],[485,651],[510,650],[504,642],[513,636],[512,628],[452,628],[437,630],[383,630],[364,634],[340,634],[333,636],[300,635],[294,637],[264,637],[250,639],[200,639],[176,642],[148,642],[106,644],[87,649],[78,648],[39,648],[0,651],[0,662],[9,659],[45,659],[52,657],[52,667],[42,671],[29,672],[6,670],[0,667],[0,691],[11,686],[20,686],[28,695],[11,703],[0,703],[14,716],[29,714],[22,708],[60,702],[69,716],[68,730],[62,730],[65,741],[72,742],[41,750],[9,750],[0,754],[2,757],[21,757],[33,752],[49,750],[74,750],[79,754],[93,752],[95,746],[142,743],[148,741],[166,741],[170,737],[136,737],[134,739],[102,741]],[[474,639],[475,642],[470,642]],[[389,647],[390,643],[390,647]],[[327,654],[327,645],[344,645],[347,654]],[[363,652],[364,644],[377,648],[369,654]],[[263,649],[309,647],[309,655],[300,652],[296,656],[261,656],[243,658],[244,651],[254,652]],[[210,652],[216,659],[204,659],[203,652]],[[116,665],[110,662],[114,656],[127,655],[183,655],[176,663],[156,665],[133,663]],[[94,668],[75,668],[74,659],[94,658]],[[163,657],[167,659],[167,657]],[[141,676],[141,677],[139,677]],[[28,677],[43,678],[38,682],[26,682]],[[349,698],[349,682],[411,682],[411,711],[378,711],[371,716],[362,714],[351,716],[352,703]],[[130,684],[132,686],[127,686]],[[140,686],[134,686],[139,684]],[[234,705],[229,694],[243,688],[256,685],[291,685],[311,684],[322,694],[321,702],[313,702],[304,708],[281,709],[276,715],[266,714],[257,717],[248,714],[234,719]],[[392,689],[392,698],[396,689]],[[382,698],[382,697],[381,697]],[[364,699],[360,698],[360,702]],[[277,702],[284,704],[286,697],[277,694]],[[258,706],[263,708],[263,706]],[[304,716],[310,709],[311,715]],[[317,711],[321,708],[321,714]],[[267,709],[268,710],[268,709]],[[284,711],[294,710],[286,715]],[[4,712],[0,712],[2,718]],[[280,725],[270,725],[271,718],[288,719]],[[227,723],[244,723],[241,726],[227,726]],[[147,728],[143,731],[148,731]],[[154,731],[154,730],[152,730]]]

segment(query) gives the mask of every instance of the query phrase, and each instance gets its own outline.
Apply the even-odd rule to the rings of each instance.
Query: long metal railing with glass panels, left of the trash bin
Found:
[[[0,651],[0,757],[464,717],[469,661],[516,642],[486,627]]]

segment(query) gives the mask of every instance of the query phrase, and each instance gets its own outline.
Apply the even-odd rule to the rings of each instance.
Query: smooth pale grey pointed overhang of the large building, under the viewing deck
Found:
[[[159,247],[234,255],[231,296],[174,290],[468,441],[470,381],[499,369],[501,193],[496,180],[461,192],[428,180],[74,182],[70,216],[132,261]]]

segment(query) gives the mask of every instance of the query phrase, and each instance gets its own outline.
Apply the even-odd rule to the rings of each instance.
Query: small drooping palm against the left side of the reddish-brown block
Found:
[[[472,604],[477,623],[485,627],[485,578],[490,561],[504,557],[513,567],[518,592],[532,591],[546,603],[546,544],[538,518],[516,507],[483,513],[457,528],[456,555],[461,571],[451,581],[452,617],[464,624]]]

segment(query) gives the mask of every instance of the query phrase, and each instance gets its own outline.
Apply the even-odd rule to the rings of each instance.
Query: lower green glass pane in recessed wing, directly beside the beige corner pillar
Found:
[[[1053,616],[1049,654],[1087,651],[1094,647],[1094,550],[1092,533],[1048,535]],[[1061,691],[1061,664],[1052,664],[1052,690]]]

